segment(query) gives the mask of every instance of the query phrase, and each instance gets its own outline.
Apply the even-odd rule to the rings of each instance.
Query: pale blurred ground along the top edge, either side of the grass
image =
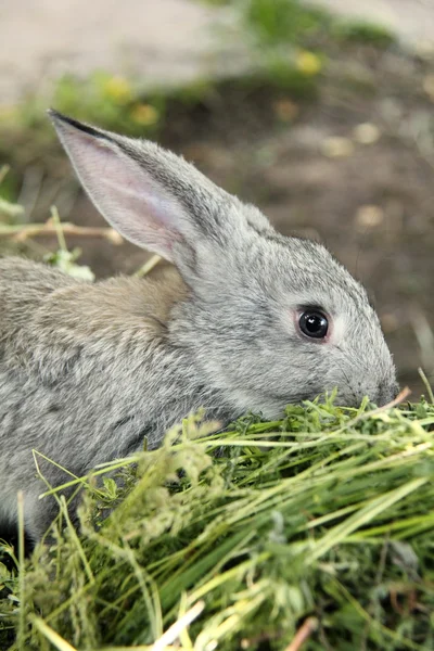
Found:
[[[385,25],[412,48],[434,48],[434,0],[310,4]],[[102,68],[167,85],[245,62],[242,43],[230,38],[231,9],[201,0],[0,0],[0,107],[46,91],[64,73]]]

